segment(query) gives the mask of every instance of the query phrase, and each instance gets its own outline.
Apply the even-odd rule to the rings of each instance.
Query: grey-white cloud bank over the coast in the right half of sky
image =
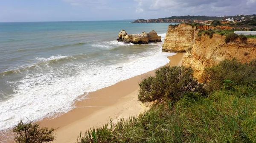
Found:
[[[167,17],[173,15],[236,15],[255,14],[256,0],[134,0],[137,10],[143,13],[157,12]],[[166,13],[168,11],[168,13]],[[163,17],[163,16],[159,17]]]

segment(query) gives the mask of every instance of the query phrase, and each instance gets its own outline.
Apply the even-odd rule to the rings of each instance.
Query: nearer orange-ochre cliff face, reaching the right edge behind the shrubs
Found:
[[[225,36],[214,34],[209,36],[195,36],[195,43],[191,51],[185,54],[182,64],[191,66],[194,76],[204,81],[202,74],[205,67],[216,65],[224,59],[236,58],[239,62],[250,62],[256,59],[256,39],[248,39],[246,43],[237,39],[226,43]]]

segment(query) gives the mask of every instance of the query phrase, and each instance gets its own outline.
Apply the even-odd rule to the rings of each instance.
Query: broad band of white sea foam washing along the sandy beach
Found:
[[[84,92],[96,91],[154,70],[169,62],[167,56],[175,54],[161,52],[161,45],[156,45],[155,48],[153,51],[131,56],[128,61],[118,64],[105,66],[99,63],[70,62],[57,71],[39,71],[27,74],[19,81],[10,82],[16,86],[15,94],[13,98],[0,104],[0,129],[10,128],[20,119],[29,118],[35,121],[68,112],[74,108],[74,101],[81,100],[80,95]],[[65,56],[52,56],[38,60],[63,57]],[[74,70],[79,72],[72,76],[64,74]]]

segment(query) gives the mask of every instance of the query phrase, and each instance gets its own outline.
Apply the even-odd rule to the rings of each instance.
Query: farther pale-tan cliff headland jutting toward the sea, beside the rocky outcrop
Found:
[[[163,43],[164,52],[186,52],[192,48],[196,28],[191,25],[169,25]]]

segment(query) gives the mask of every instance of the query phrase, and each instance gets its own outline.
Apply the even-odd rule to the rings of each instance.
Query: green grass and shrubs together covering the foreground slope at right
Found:
[[[190,68],[161,67],[140,83],[140,100],[158,100],[151,109],[81,133],[77,143],[255,143],[255,63],[233,59],[208,68],[204,84],[216,88],[206,88],[207,96]]]

